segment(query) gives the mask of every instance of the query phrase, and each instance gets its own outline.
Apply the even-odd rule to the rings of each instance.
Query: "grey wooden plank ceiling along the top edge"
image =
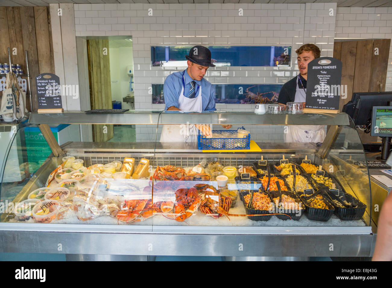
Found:
[[[337,2],[338,7],[392,7],[392,0],[1,0],[0,6],[47,6],[49,3],[315,3]]]

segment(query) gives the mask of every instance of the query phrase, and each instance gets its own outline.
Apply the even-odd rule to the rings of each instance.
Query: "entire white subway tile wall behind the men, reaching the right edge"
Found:
[[[336,3],[131,3],[75,4],[74,10],[76,36],[132,36],[135,109],[163,109],[162,104],[152,104],[148,89],[183,69],[151,67],[154,45],[292,46],[291,67],[216,67],[206,75],[211,83],[263,84],[285,83],[294,77],[298,73],[295,50],[304,43],[315,43],[321,56],[332,57],[334,38],[392,38],[392,7],[337,9]],[[392,52],[388,63],[387,91],[392,90]],[[216,109],[253,110],[254,105],[217,104]],[[152,139],[147,133],[149,129],[144,128],[147,127],[138,125],[137,141]],[[245,128],[258,142],[283,141],[283,126]]]

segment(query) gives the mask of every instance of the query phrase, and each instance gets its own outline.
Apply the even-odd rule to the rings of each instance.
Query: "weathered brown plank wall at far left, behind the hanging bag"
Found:
[[[8,63],[7,48],[13,63],[27,74],[24,51],[29,59],[33,110],[38,109],[35,77],[42,72],[54,73],[53,47],[48,7],[0,7],[0,63]],[[13,48],[16,55],[12,55]],[[26,78],[26,77],[23,77]],[[29,100],[27,109],[31,111]]]

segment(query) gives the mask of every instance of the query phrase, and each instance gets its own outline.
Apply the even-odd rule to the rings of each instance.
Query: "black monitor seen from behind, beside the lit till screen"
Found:
[[[343,112],[350,115],[356,126],[363,126],[372,120],[373,106],[387,106],[392,101],[392,92],[354,92],[351,101],[343,106]]]

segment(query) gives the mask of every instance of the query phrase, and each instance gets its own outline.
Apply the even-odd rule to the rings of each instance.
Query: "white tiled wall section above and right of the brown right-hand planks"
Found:
[[[338,7],[335,38],[391,39],[392,7]],[[385,91],[392,91],[392,42],[389,49]]]

